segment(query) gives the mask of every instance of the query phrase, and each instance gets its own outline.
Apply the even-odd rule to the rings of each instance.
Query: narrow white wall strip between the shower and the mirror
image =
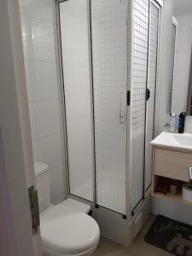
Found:
[[[169,121],[168,102],[172,91],[172,0],[164,1],[162,17],[162,45],[160,64],[160,88],[157,90],[157,109],[155,131],[156,135],[165,130],[165,124]]]

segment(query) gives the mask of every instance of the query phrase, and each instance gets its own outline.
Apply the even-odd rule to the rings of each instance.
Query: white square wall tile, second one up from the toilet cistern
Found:
[[[34,102],[37,137],[45,137],[61,131],[61,114],[58,100]]]

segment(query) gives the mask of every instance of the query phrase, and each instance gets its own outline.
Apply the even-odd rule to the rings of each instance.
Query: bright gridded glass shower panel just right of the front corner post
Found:
[[[148,73],[148,0],[134,1],[133,88],[131,89],[131,209],[143,198],[145,104]]]

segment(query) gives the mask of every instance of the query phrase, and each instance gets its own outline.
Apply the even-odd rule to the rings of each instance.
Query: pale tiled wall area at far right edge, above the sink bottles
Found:
[[[176,114],[186,108],[192,36],[192,15],[176,17],[177,38],[173,77],[172,109]]]

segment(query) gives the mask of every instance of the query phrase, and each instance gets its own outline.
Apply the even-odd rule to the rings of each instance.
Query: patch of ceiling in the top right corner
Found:
[[[172,0],[175,16],[192,15],[192,0]]]

